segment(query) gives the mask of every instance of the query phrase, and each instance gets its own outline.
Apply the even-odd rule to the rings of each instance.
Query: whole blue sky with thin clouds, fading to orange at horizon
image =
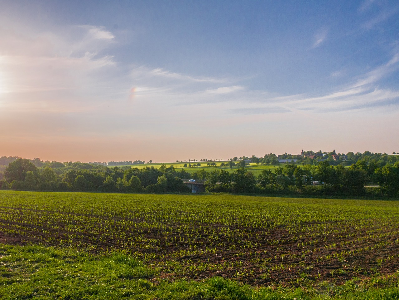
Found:
[[[397,1],[0,0],[0,156],[399,152]]]

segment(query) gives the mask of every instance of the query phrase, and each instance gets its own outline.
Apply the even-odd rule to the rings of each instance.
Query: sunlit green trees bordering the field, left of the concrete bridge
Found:
[[[185,171],[162,164],[159,169],[145,167],[108,168],[88,163],[59,163],[56,168],[36,167],[30,160],[18,158],[4,171],[0,189],[33,191],[107,191],[107,192],[190,192],[181,178]]]

